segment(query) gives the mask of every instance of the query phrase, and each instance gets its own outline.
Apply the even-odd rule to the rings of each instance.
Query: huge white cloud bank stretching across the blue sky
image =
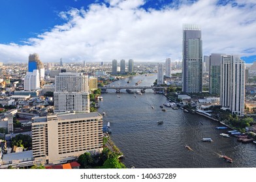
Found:
[[[108,0],[71,8],[59,14],[66,23],[29,38],[27,45],[0,44],[1,61],[27,62],[29,53],[38,53],[42,62],[58,62],[61,57],[64,62],[181,60],[184,23],[200,25],[204,55],[256,55],[253,1],[177,2],[178,6],[172,3],[160,10],[145,10],[142,0]]]

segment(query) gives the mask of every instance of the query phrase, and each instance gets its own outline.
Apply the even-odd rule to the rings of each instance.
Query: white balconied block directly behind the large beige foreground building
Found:
[[[54,92],[54,112],[89,112],[89,92]]]

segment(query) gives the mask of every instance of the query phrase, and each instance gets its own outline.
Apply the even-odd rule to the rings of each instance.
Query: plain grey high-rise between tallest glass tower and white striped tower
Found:
[[[219,95],[221,85],[221,54],[210,55],[210,94]]]

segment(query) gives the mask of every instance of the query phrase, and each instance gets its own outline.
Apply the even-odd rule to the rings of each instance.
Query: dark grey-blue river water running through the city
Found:
[[[142,80],[139,86],[150,86],[155,79],[156,74],[139,75],[110,85],[135,86]],[[127,168],[256,167],[256,145],[237,142],[234,136],[220,136],[227,130],[215,129],[219,123],[181,109],[165,107],[166,112],[163,112],[159,106],[167,98],[153,94],[151,89],[142,95],[121,92],[108,90],[107,94],[102,94],[98,111],[106,113],[103,124],[110,122],[110,136],[125,155],[123,163]],[[159,121],[163,121],[163,125],[157,125]],[[212,138],[213,142],[202,142],[202,138]],[[186,149],[186,145],[193,151]],[[224,161],[218,153],[231,157],[233,162]]]

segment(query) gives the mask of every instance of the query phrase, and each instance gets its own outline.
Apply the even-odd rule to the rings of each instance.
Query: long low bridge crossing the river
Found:
[[[120,92],[121,89],[140,89],[142,91],[145,91],[146,89],[165,89],[167,90],[168,86],[103,86],[99,87],[104,92],[108,89],[115,89],[116,92]]]

